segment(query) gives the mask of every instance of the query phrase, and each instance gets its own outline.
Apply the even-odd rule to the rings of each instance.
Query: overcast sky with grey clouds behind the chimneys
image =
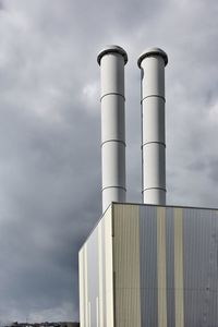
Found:
[[[0,1],[0,319],[78,319],[101,214],[97,52],[126,64],[128,201],[141,201],[138,55],[162,48],[168,204],[218,207],[217,0]]]

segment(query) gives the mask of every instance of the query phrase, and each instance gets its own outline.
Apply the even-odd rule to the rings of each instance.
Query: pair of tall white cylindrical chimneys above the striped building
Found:
[[[108,46],[98,55],[101,73],[102,211],[111,202],[125,202],[125,93],[126,52]],[[165,66],[159,48],[144,51],[141,69],[142,194],[143,203],[166,204]]]

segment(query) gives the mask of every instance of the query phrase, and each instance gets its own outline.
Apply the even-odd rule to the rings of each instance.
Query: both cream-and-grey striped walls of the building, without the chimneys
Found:
[[[218,210],[113,203],[80,251],[82,327],[218,327]]]

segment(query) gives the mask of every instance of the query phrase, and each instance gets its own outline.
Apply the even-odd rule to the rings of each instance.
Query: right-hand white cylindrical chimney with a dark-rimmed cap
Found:
[[[166,204],[165,66],[168,57],[159,48],[144,51],[137,61],[142,88],[142,193],[143,202]]]

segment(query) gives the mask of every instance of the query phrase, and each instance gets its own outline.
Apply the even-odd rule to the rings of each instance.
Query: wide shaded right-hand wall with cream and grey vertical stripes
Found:
[[[114,204],[113,213],[116,327],[218,327],[218,211]]]

